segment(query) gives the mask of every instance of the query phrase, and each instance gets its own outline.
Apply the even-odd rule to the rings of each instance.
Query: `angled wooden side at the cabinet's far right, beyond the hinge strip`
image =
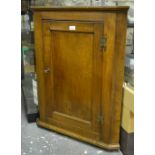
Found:
[[[122,88],[124,81],[125,41],[127,14],[118,13],[116,16],[115,55],[113,64],[112,111],[111,111],[111,144],[119,143]]]

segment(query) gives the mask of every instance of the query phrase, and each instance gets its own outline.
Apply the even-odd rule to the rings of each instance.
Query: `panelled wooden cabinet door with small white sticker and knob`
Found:
[[[43,21],[46,121],[77,135],[100,138],[102,22]]]

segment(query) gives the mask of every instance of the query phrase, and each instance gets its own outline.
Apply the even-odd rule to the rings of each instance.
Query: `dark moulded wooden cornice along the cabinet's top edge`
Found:
[[[33,11],[104,11],[104,12],[127,12],[129,9],[128,6],[32,6],[31,10]]]

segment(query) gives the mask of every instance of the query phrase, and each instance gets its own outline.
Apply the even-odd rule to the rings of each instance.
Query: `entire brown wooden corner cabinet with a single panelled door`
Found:
[[[32,7],[39,126],[119,148],[128,7]]]

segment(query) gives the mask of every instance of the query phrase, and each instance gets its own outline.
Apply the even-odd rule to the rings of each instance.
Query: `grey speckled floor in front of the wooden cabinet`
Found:
[[[23,102],[23,101],[22,101]],[[120,151],[107,152],[72,138],[28,123],[22,103],[22,155],[122,155]]]

